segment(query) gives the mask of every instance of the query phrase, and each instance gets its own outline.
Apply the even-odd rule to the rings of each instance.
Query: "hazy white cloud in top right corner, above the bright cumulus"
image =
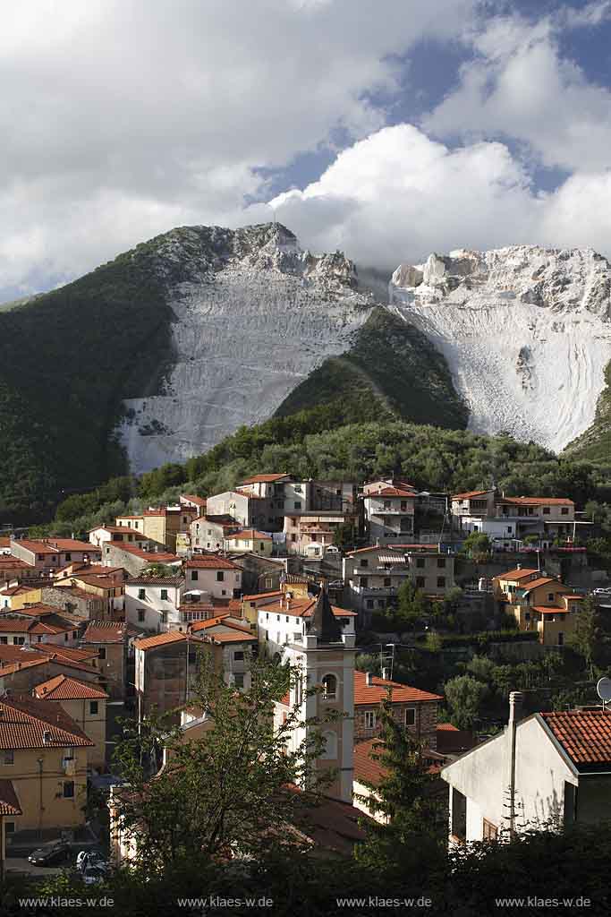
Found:
[[[597,171],[611,149],[611,92],[562,57],[562,29],[599,24],[609,3],[562,9],[536,23],[499,17],[473,35],[475,60],[422,127],[438,137],[516,138],[543,165]]]

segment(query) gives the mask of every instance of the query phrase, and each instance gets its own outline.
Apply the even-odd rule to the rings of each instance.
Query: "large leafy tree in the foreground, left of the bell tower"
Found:
[[[286,823],[320,789],[312,761],[322,739],[312,729],[291,748],[299,708],[276,729],[273,713],[298,677],[290,668],[254,661],[250,690],[235,691],[214,670],[212,656],[202,654],[190,700],[210,722],[202,737],[185,741],[180,728],[154,716],[128,729],[115,756],[126,784],[117,797],[118,821],[136,843],[141,867],[155,872],[189,861],[203,868],[236,849],[256,856],[263,837],[270,846],[297,843]],[[158,779],[151,762],[161,747],[166,764]],[[287,790],[304,780],[308,792]]]

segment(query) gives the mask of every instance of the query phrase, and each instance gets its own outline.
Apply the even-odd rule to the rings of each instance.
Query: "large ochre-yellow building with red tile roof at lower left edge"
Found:
[[[42,831],[84,824],[92,740],[51,701],[0,701],[0,780],[10,780],[20,815],[5,830]]]

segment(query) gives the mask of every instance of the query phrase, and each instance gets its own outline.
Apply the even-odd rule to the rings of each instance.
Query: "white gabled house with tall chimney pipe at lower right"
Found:
[[[610,713],[534,713],[510,695],[505,731],[442,769],[453,844],[611,818]]]

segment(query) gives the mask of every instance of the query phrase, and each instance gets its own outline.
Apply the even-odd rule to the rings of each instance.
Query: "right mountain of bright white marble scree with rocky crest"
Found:
[[[611,269],[592,249],[431,254],[389,284],[447,360],[468,429],[560,451],[595,421],[611,359]]]

